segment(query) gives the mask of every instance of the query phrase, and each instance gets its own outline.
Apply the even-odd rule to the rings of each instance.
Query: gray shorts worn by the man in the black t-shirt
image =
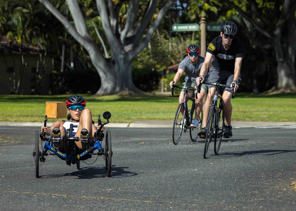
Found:
[[[239,79],[238,79],[239,84],[242,80],[240,77],[241,77],[241,75],[239,76]],[[207,81],[210,83],[217,82],[219,84],[226,84],[226,85],[230,86],[231,83],[233,82],[233,73],[228,72],[228,71],[224,71],[224,70],[217,70],[217,69],[211,67],[210,72],[209,72],[209,78],[207,79]],[[211,87],[215,87],[215,86],[208,85],[209,89]],[[223,91],[232,92],[231,88],[225,88],[225,87],[223,87]]]

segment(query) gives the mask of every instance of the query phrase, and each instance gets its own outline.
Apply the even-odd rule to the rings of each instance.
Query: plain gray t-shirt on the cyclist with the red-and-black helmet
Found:
[[[189,56],[186,56],[181,63],[179,64],[178,69],[182,69],[185,71],[185,82],[192,83],[195,82],[195,79],[200,76],[200,68],[202,67],[202,63],[205,61],[204,57],[199,56],[197,59],[197,63],[192,64]]]

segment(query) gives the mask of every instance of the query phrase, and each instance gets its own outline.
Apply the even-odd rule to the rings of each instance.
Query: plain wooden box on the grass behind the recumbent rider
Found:
[[[64,102],[46,101],[45,114],[47,115],[47,118],[66,118],[66,105]]]

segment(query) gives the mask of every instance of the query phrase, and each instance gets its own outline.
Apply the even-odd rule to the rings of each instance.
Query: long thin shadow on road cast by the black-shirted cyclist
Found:
[[[296,150],[254,150],[244,152],[223,152],[218,155],[212,155],[209,159],[235,158],[244,155],[276,155],[287,152],[296,152]]]

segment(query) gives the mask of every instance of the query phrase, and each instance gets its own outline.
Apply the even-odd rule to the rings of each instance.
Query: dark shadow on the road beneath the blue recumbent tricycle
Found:
[[[115,167],[112,165],[111,167],[111,177],[129,177],[129,176],[136,176],[137,173],[133,173],[131,171],[126,171],[128,167]],[[39,178],[57,178],[57,177],[64,177],[64,176],[76,176],[75,179],[92,179],[92,178],[103,178],[106,176],[106,167],[104,165],[101,166],[91,166],[91,167],[84,167],[80,170],[73,171],[71,173],[65,174],[49,174],[39,176]]]

